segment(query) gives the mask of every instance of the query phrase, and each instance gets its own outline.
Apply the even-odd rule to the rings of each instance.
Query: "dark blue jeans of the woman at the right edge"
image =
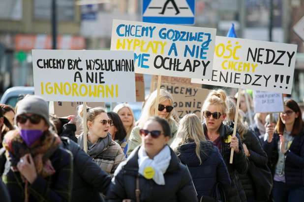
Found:
[[[291,186],[284,182],[274,181],[274,202],[304,201],[304,186]]]

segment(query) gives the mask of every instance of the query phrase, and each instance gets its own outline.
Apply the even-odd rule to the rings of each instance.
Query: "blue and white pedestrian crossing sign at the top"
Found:
[[[143,0],[143,22],[194,25],[195,0]]]

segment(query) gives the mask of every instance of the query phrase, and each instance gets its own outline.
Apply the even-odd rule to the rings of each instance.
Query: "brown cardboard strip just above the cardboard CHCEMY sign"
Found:
[[[150,92],[154,91],[154,82],[157,82],[158,76],[153,75],[151,79],[150,85]],[[183,77],[176,77],[176,76],[161,76],[161,83],[170,83],[170,84],[178,84],[178,85],[185,85],[185,86],[192,86],[201,88],[202,84],[198,83],[191,83],[191,78],[183,78]]]

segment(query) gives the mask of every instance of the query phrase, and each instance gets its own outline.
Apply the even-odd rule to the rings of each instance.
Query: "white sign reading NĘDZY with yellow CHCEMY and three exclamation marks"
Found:
[[[212,78],[192,83],[291,94],[297,45],[216,36]]]

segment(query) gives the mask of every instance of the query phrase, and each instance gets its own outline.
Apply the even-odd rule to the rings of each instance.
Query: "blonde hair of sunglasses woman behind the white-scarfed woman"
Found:
[[[142,114],[139,118],[138,126],[143,127],[145,125],[146,121],[149,119],[149,117],[154,116],[154,111],[158,110],[158,109],[155,109],[156,96],[157,96],[157,90],[153,91],[152,94],[149,96],[148,100],[146,101]],[[168,91],[166,91],[164,89],[160,89],[158,103],[161,103],[161,102],[164,102],[167,100],[169,100],[171,106],[173,106],[174,101],[173,101],[172,95]],[[172,117],[173,113],[174,113],[174,109],[171,112],[169,112],[168,116],[166,117],[166,120],[170,124],[172,122],[176,122]]]

